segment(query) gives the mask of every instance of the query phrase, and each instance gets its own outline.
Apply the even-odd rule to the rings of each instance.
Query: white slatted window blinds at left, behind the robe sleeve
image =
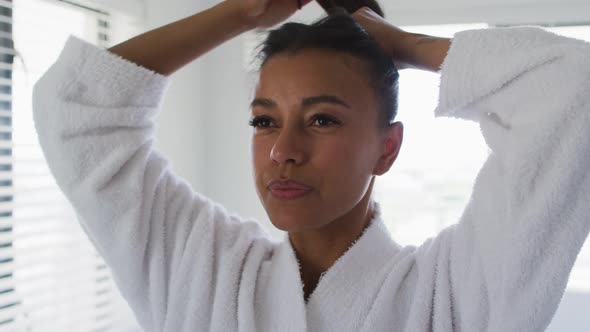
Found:
[[[140,331],[57,187],[32,118],[32,87],[69,35],[107,47],[113,23],[72,1],[0,0],[0,332]]]

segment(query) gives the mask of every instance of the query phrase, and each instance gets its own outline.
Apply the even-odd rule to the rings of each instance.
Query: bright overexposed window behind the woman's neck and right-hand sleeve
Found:
[[[441,37],[486,28],[486,24],[405,26],[404,30]],[[590,26],[546,28],[590,41]],[[395,241],[420,245],[457,223],[467,206],[475,177],[488,156],[479,126],[472,121],[434,118],[440,76],[400,71],[398,121],[404,142],[392,169],[378,178],[376,199]],[[576,261],[568,290],[590,291],[590,241]]]

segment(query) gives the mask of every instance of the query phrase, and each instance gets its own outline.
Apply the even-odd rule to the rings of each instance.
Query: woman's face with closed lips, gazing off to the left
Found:
[[[277,228],[329,224],[387,171],[391,142],[377,125],[378,106],[362,61],[351,56],[309,50],[266,62],[252,102],[252,155],[258,196]]]

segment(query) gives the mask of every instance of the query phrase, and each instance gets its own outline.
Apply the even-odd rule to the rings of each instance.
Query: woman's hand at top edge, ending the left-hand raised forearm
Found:
[[[269,28],[293,15],[298,9],[297,0],[226,0],[237,6],[250,28]],[[301,0],[307,4],[311,0]]]

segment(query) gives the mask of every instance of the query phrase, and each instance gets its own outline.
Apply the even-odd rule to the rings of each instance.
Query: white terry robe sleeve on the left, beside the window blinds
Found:
[[[233,310],[215,297],[235,297],[247,249],[263,234],[194,192],[154,150],[169,83],[70,36],[33,89],[49,168],[147,331],[163,330],[172,302],[197,299],[190,314],[204,329],[216,307]]]

